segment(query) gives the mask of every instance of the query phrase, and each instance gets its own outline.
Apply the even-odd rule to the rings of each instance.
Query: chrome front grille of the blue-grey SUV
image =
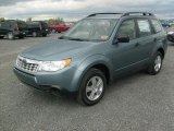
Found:
[[[36,72],[39,67],[39,61],[30,60],[30,59],[18,56],[16,60],[16,66],[20,69],[28,71],[28,72]]]

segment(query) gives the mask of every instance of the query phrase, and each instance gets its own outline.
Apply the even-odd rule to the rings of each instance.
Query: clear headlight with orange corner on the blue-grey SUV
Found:
[[[38,71],[58,71],[71,64],[72,59],[62,61],[42,61],[39,64]]]

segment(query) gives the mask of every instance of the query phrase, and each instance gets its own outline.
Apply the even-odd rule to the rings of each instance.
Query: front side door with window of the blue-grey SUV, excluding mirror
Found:
[[[134,69],[140,61],[137,46],[137,29],[134,19],[125,20],[120,25],[115,40],[122,36],[128,36],[128,43],[112,45],[112,61],[114,74]]]

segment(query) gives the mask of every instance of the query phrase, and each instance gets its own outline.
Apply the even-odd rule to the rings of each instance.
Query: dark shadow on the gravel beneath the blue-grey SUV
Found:
[[[142,78],[145,76],[146,73],[145,71],[139,71],[133,74],[128,74],[126,76],[122,76],[120,79],[114,80],[110,85],[108,85],[107,87],[107,92],[104,97],[110,97],[110,95],[114,95],[114,93],[117,93],[120,90],[123,90],[124,87],[127,87],[126,85],[138,81],[138,78]],[[148,75],[148,74],[147,74]],[[61,105],[61,106],[80,106],[77,102],[76,102],[76,94],[65,94],[65,95],[55,95],[52,94],[50,92],[42,92],[42,91],[38,91],[33,88],[33,96],[35,97],[34,99],[41,99],[45,103],[51,103],[52,105]],[[37,102],[37,100],[36,100]]]

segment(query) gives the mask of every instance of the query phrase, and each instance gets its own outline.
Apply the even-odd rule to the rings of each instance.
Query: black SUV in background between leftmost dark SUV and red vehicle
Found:
[[[47,36],[49,34],[49,26],[44,21],[27,22],[28,33],[33,37]]]

